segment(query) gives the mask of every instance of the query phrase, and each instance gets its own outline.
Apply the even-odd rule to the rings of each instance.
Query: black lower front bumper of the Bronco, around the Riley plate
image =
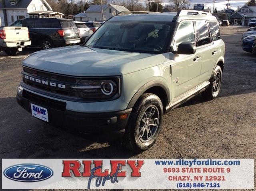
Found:
[[[79,131],[86,134],[109,135],[121,137],[124,134],[132,108],[101,113],[82,113],[69,111],[65,102],[56,101],[39,96],[26,90],[18,90],[16,100],[26,111],[31,113],[30,103],[34,103],[48,110],[49,123],[66,129]],[[102,104],[104,104],[102,102]],[[120,119],[120,115],[126,114],[127,118]]]

